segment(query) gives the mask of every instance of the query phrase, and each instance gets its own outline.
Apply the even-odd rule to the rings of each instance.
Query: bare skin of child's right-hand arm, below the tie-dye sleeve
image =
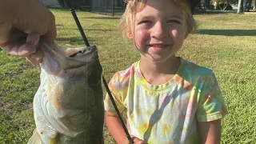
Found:
[[[198,122],[198,129],[203,144],[219,144],[221,142],[221,120]]]

